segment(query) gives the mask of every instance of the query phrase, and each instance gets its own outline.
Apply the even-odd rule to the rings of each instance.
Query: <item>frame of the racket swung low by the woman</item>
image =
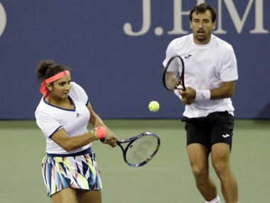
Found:
[[[131,144],[136,141],[137,139],[141,138],[141,137],[144,137],[144,136],[154,136],[156,137],[156,140],[157,140],[157,146],[156,146],[156,149],[153,150],[153,153],[151,153],[151,155],[146,159],[144,160],[143,162],[141,163],[136,163],[136,164],[133,164],[133,163],[129,163],[127,160],[126,160],[126,151],[129,149],[129,147],[131,146]],[[121,144],[122,143],[128,143],[127,146],[124,148]],[[128,138],[128,139],[124,139],[124,140],[117,140],[117,146],[119,146],[122,150],[122,153],[123,153],[123,157],[124,157],[124,161],[126,162],[126,164],[132,166],[132,167],[140,167],[142,165],[146,165],[146,163],[148,163],[154,155],[156,155],[157,151],[158,151],[158,148],[159,146],[161,145],[161,140],[160,138],[158,138],[158,136],[155,134],[155,133],[150,133],[150,132],[145,132],[145,133],[141,133],[139,134],[138,136],[134,136],[132,138]]]

